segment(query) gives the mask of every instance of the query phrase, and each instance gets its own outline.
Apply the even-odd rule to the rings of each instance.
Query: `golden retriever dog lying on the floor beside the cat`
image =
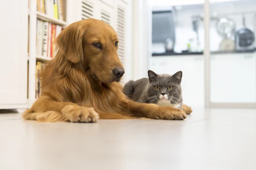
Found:
[[[96,19],[72,23],[61,31],[55,44],[55,58],[41,72],[41,96],[23,113],[24,119],[186,118],[180,109],[137,103],[122,93],[119,81],[125,71],[117,55],[118,36],[107,23]]]

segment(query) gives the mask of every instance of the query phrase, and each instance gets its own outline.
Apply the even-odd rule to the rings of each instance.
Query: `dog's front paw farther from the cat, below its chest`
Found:
[[[78,105],[67,105],[62,110],[65,118],[70,122],[97,122],[99,113],[93,108],[81,107]]]

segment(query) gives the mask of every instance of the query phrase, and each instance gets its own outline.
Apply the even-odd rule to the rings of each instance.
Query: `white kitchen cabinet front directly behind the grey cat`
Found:
[[[183,72],[181,87],[183,102],[192,106],[204,105],[203,55],[151,57],[149,69],[157,74]]]

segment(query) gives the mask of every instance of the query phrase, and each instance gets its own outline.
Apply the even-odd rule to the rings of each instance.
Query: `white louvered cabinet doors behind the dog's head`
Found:
[[[124,66],[128,59],[131,60],[126,50],[128,3],[129,1],[126,0],[81,0],[81,3],[78,3],[80,12],[76,15],[77,20],[95,18],[108,23],[115,29],[119,37],[118,55]],[[125,75],[121,80],[122,84],[127,81]]]

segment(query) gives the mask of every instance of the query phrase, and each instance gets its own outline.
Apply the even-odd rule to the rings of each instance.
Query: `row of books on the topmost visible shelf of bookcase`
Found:
[[[37,11],[63,20],[63,0],[37,0]]]

